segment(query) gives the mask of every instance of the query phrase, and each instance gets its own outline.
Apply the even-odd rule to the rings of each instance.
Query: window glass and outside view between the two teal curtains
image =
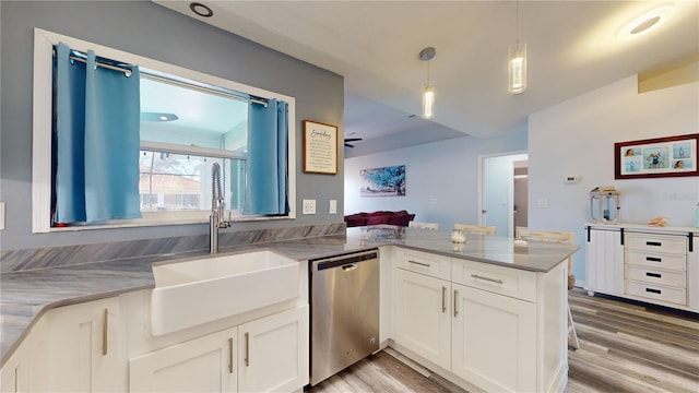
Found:
[[[223,168],[226,209],[241,209],[247,114],[247,100],[233,94],[159,76],[142,78],[141,212],[211,209],[213,163]]]

